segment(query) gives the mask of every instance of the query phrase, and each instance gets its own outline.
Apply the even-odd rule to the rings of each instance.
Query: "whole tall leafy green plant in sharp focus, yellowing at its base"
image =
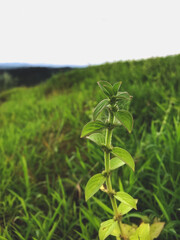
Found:
[[[102,92],[109,98],[102,100],[97,107],[94,109],[93,113],[93,119],[94,121],[87,123],[81,133],[81,137],[85,137],[87,135],[90,135],[94,133],[95,131],[106,129],[106,134],[103,136],[102,134],[93,134],[92,136],[89,136],[88,138],[98,144],[99,146],[102,146],[104,151],[104,166],[105,171],[102,173],[96,174],[93,177],[91,177],[86,185],[85,188],[85,200],[89,200],[99,189],[101,189],[103,192],[106,192],[111,200],[113,212],[114,212],[114,219],[109,219],[100,225],[99,229],[99,239],[104,240],[109,235],[116,236],[116,239],[129,239],[129,240],[150,240],[154,239],[159,236],[160,232],[156,231],[155,227],[151,228],[150,233],[150,224],[149,223],[142,223],[137,229],[135,229],[133,226],[122,224],[122,216],[131,209],[137,210],[137,200],[134,199],[131,195],[124,191],[116,192],[112,189],[112,183],[111,183],[111,171],[114,169],[123,166],[124,164],[127,164],[133,171],[135,169],[135,163],[128,151],[126,151],[123,148],[120,147],[112,147],[111,141],[112,141],[112,131],[116,125],[114,125],[115,120],[117,119],[120,121],[120,123],[129,131],[132,131],[133,126],[133,118],[132,115],[126,111],[121,110],[118,103],[120,100],[124,100],[124,98],[119,98],[119,96],[129,96],[128,93],[122,93],[119,92],[119,88],[121,83],[114,84],[113,86],[106,82],[106,81],[100,81],[98,82],[99,87],[101,88]],[[129,100],[129,99],[126,99]],[[104,108],[107,108],[108,110],[108,116],[107,119],[104,119],[103,122],[96,120],[97,116]],[[111,154],[115,156],[115,158],[111,159]],[[106,181],[106,187],[103,186],[104,182]],[[156,196],[155,196],[156,197]],[[156,197],[157,198],[157,197]],[[121,202],[120,206],[117,207],[116,200],[119,200]],[[101,203],[101,201],[97,201],[98,205],[100,205],[105,211],[109,211],[109,208]],[[162,208],[162,207],[161,207]],[[167,219],[168,220],[168,219]],[[127,230],[128,226],[128,230]],[[162,223],[161,223],[161,226]],[[153,230],[155,231],[155,234],[153,233]],[[126,233],[127,231],[127,233]]]

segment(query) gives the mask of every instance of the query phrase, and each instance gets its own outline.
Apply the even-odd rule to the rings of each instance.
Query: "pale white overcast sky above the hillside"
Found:
[[[180,54],[179,0],[0,0],[0,63],[96,65]]]

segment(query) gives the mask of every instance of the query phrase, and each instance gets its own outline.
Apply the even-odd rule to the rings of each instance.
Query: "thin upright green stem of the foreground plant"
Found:
[[[113,115],[112,112],[109,113],[108,122],[110,124],[113,124],[113,122],[114,122],[114,115]],[[111,148],[112,131],[113,131],[112,129],[106,129],[105,145],[108,149]],[[108,192],[111,193],[113,189],[112,189],[111,176],[110,176],[110,152],[104,152],[104,161],[105,161],[105,171],[107,173],[107,177],[106,177],[107,190],[108,190]],[[112,207],[113,207],[114,216],[117,217],[121,237],[124,238],[123,237],[124,234],[123,234],[122,222],[118,218],[118,207],[117,207],[116,199],[114,198],[113,194],[109,194],[109,197],[110,197],[111,204],[112,204]]]

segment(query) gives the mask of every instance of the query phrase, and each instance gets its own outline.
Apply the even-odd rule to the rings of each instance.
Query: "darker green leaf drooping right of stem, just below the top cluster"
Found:
[[[119,110],[116,112],[115,116],[130,133],[133,128],[133,117],[131,113],[126,110]]]

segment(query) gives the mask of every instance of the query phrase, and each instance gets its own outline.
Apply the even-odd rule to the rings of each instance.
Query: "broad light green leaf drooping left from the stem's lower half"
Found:
[[[85,199],[86,201],[91,198],[103,185],[106,178],[102,175],[102,173],[98,173],[91,177],[85,187]]]

